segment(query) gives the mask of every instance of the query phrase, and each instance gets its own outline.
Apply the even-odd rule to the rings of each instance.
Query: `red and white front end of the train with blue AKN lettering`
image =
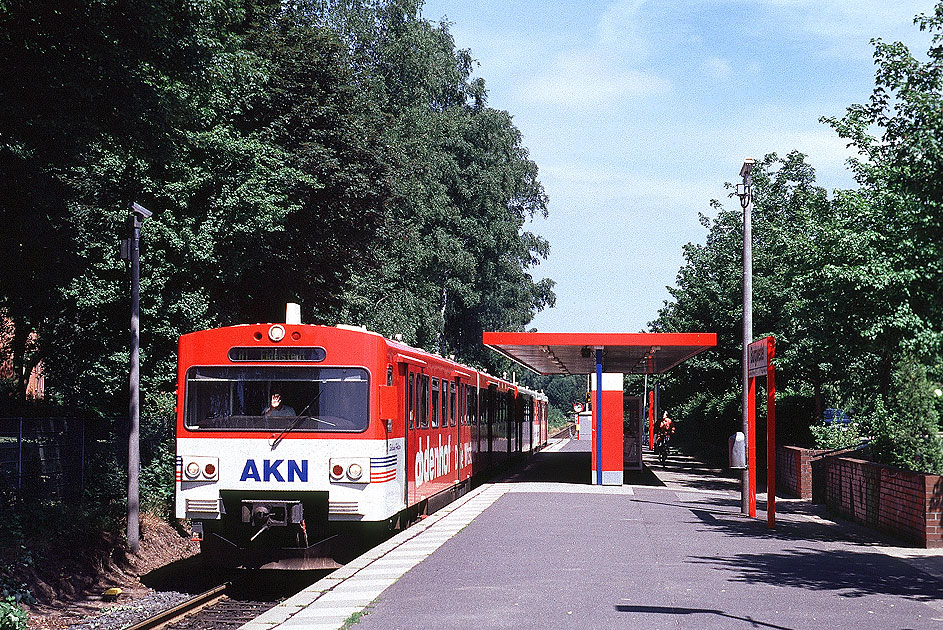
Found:
[[[184,335],[178,361],[176,516],[207,561],[333,568],[405,507],[379,335],[233,326]]]

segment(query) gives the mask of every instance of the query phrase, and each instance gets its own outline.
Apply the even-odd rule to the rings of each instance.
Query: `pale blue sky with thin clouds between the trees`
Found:
[[[557,282],[544,332],[636,332],[668,299],[698,213],[745,157],[798,149],[828,190],[850,152],[820,116],[874,87],[870,40],[924,53],[912,0],[427,0],[540,168]]]

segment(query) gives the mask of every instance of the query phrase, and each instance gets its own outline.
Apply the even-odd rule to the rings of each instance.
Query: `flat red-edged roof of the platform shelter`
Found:
[[[486,332],[492,350],[539,374],[596,371],[596,348],[603,372],[661,374],[717,345],[715,333],[540,333]]]

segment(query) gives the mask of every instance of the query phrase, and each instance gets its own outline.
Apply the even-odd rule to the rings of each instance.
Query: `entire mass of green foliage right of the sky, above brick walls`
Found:
[[[940,380],[943,354],[943,3],[916,23],[933,34],[927,61],[875,40],[870,101],[824,119],[860,152],[858,189],[829,198],[796,152],[754,171],[754,333],[776,337],[781,442],[809,439],[810,425],[822,445],[853,441],[820,426],[826,405],[853,404],[879,459],[936,470],[928,378]],[[653,327],[718,333],[716,352],[664,379],[668,404],[716,439],[739,425],[742,240],[739,210],[714,208],[702,219],[706,244],[686,246]]]

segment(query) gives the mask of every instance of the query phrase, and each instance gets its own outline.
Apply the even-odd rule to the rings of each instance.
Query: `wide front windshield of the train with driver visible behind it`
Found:
[[[363,368],[192,367],[184,424],[194,431],[364,431],[369,384]]]

